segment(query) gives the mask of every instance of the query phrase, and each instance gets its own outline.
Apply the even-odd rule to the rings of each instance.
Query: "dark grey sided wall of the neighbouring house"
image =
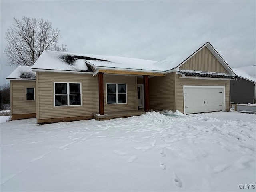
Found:
[[[231,102],[248,104],[253,103],[255,98],[254,83],[240,77],[230,82]]]

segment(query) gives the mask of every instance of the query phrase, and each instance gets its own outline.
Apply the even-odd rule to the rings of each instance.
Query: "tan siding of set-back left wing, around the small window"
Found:
[[[26,88],[36,88],[36,81],[11,80],[11,114],[36,113],[36,100],[26,100]]]

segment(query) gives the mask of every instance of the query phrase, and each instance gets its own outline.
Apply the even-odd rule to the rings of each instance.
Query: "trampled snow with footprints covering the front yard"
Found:
[[[256,116],[1,123],[1,191],[255,191]],[[241,185],[240,185],[241,184]]]

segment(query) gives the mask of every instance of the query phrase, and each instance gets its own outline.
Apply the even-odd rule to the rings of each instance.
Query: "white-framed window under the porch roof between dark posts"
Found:
[[[127,84],[106,84],[107,104],[127,103]]]

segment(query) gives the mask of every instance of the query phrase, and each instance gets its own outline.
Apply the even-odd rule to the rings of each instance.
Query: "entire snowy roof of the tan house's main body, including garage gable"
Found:
[[[32,70],[61,70],[61,71],[78,71],[78,72],[97,72],[100,69],[108,70],[144,70],[147,72],[170,72],[178,71],[179,67],[189,58],[194,56],[202,48],[207,47],[219,62],[228,71],[230,76],[234,72],[216,52],[209,42],[197,46],[184,46],[179,53],[172,54],[161,61],[152,61],[136,58],[126,58],[119,56],[102,56],[92,54],[76,54],[68,52],[56,52],[45,50],[32,66]]]

